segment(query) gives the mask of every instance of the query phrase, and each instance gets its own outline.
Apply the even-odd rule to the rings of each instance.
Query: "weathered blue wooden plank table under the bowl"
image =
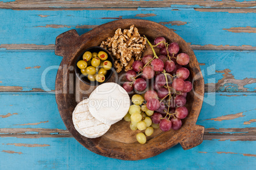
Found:
[[[250,0],[0,0],[0,169],[255,169],[255,7]],[[124,18],[161,23],[194,49],[206,87],[201,145],[124,161],[90,152],[66,130],[54,95],[62,60],[55,37]]]

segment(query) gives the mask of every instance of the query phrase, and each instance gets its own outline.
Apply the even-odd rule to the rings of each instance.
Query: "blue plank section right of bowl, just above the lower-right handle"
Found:
[[[255,119],[255,93],[206,93],[197,124],[204,128],[251,128]]]

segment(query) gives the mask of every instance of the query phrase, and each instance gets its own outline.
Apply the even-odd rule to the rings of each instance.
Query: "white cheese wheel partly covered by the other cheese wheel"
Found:
[[[73,124],[76,131],[83,136],[87,138],[98,138],[110,129],[110,125],[98,121],[90,114],[88,101],[88,99],[85,99],[76,105],[72,115]]]

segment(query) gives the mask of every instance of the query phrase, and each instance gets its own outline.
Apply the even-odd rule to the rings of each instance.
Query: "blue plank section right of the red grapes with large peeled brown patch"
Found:
[[[194,51],[208,91],[255,91],[255,51]],[[248,86],[245,86],[249,84]]]

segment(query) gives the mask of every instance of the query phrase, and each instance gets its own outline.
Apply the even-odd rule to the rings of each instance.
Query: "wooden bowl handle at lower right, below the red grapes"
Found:
[[[204,126],[194,125],[187,130],[187,135],[180,141],[183,150],[188,150],[203,142]]]

